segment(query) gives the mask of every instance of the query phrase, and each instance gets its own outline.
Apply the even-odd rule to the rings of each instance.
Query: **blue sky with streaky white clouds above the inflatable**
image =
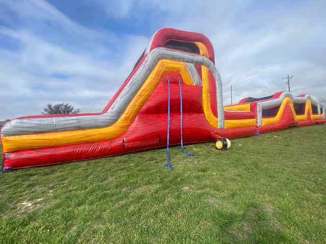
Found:
[[[263,97],[286,89],[287,74],[294,94],[326,99],[325,11],[325,1],[0,0],[0,118],[60,102],[101,111],[161,27],[212,41],[226,105],[230,85],[234,101]]]

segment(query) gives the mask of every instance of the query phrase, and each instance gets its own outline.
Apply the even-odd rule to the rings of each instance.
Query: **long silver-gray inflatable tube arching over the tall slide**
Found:
[[[60,116],[45,118],[13,119],[1,132],[2,136],[26,135],[44,132],[72,131],[80,129],[103,128],[113,125],[137,94],[147,77],[161,59],[185,62],[186,67],[196,85],[201,84],[195,64],[206,66],[213,74],[216,82],[216,99],[218,101],[218,125],[224,129],[224,109],[222,97],[222,80],[215,65],[208,58],[167,48],[155,48],[145,58],[141,67],[130,79],[107,112],[99,115]]]

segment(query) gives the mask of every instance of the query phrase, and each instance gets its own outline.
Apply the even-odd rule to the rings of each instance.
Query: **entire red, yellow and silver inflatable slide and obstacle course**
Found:
[[[224,107],[208,38],[162,28],[102,112],[11,119],[1,131],[3,167],[89,160],[322,124],[325,109],[309,95],[287,92]]]

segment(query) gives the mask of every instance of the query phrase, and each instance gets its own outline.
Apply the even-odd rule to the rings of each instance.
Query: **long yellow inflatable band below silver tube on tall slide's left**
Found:
[[[131,100],[121,117],[112,126],[99,129],[2,137],[4,153],[42,147],[97,142],[115,138],[126,132],[132,120],[154,92],[155,87],[166,72],[178,72],[185,84],[195,85],[187,71],[185,63],[162,59],[157,63],[154,70],[142,85],[137,95]]]

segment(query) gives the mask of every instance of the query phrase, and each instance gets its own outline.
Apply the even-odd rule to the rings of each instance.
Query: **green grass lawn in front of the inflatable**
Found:
[[[0,243],[326,243],[326,127],[0,175]]]

